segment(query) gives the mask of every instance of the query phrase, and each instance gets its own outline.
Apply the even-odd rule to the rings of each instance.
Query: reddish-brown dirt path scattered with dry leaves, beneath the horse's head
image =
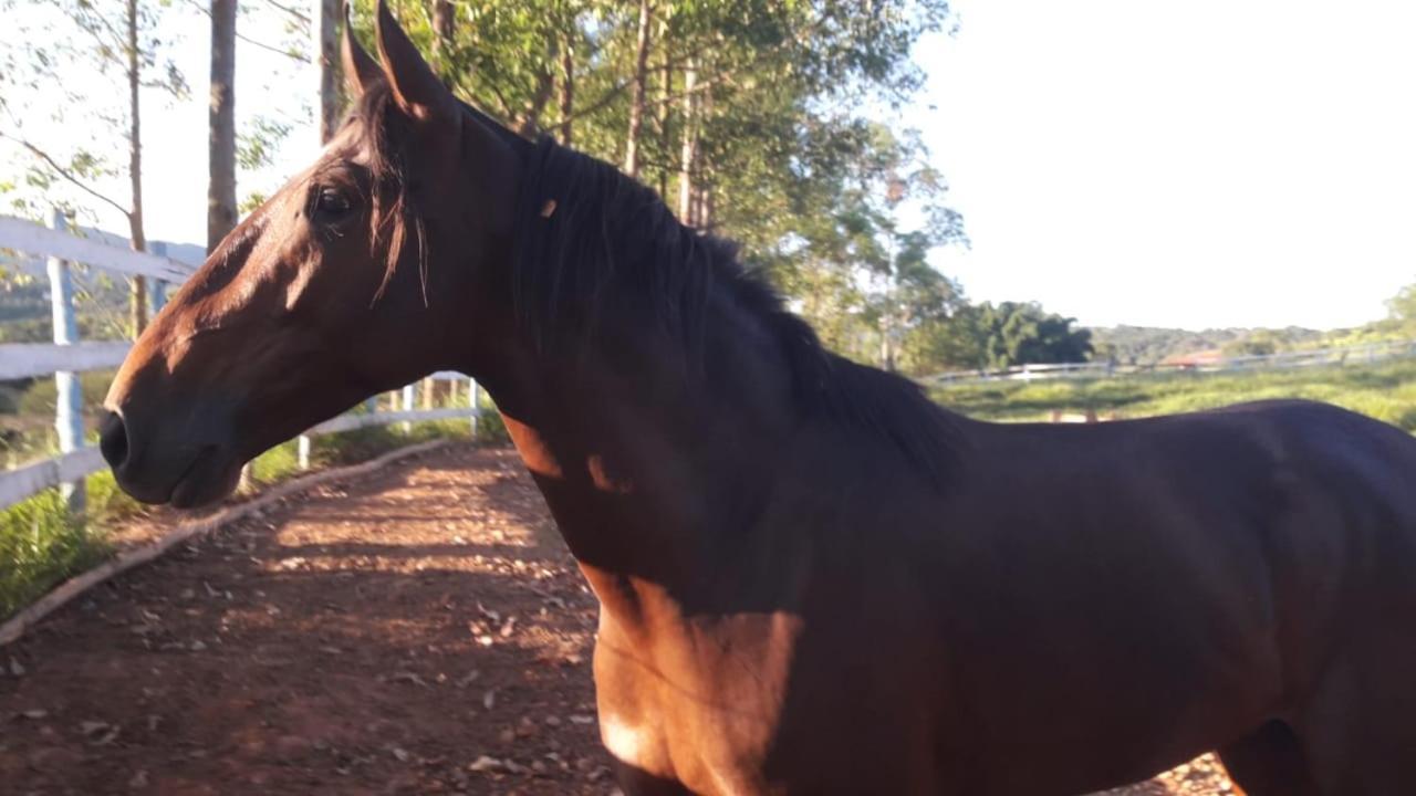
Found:
[[[595,602],[506,452],[323,487],[0,650],[0,792],[613,793]],[[1124,792],[1226,793],[1201,768]]]

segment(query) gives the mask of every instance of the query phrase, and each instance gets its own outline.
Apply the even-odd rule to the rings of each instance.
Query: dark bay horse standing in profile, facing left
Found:
[[[991,425],[827,353],[649,188],[455,99],[379,4],[354,110],[154,319],[102,450],[150,503],[479,378],[600,602],[632,795],[1073,795],[1218,749],[1416,793],[1416,442],[1269,402]]]

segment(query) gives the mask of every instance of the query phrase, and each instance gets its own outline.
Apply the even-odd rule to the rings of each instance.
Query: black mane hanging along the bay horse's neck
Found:
[[[735,245],[683,225],[619,169],[542,139],[515,218],[513,305],[539,350],[590,346],[607,313],[632,312],[702,377],[709,300],[725,293],[782,346],[800,411],[879,435],[936,479],[950,470],[956,415],[910,380],[830,353]]]

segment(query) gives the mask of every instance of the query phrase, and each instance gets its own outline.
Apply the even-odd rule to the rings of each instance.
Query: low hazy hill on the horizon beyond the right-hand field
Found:
[[[1121,364],[1154,364],[1180,357],[1222,351],[1225,356],[1272,354],[1318,347],[1331,331],[1290,326],[1287,329],[1163,329],[1154,326],[1093,327],[1095,360]]]

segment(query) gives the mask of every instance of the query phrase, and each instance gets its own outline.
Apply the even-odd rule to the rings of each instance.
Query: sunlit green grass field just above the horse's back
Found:
[[[930,395],[966,415],[1008,422],[1045,421],[1055,409],[1143,418],[1243,401],[1307,398],[1416,432],[1416,360],[1228,374],[991,381],[939,387]]]

